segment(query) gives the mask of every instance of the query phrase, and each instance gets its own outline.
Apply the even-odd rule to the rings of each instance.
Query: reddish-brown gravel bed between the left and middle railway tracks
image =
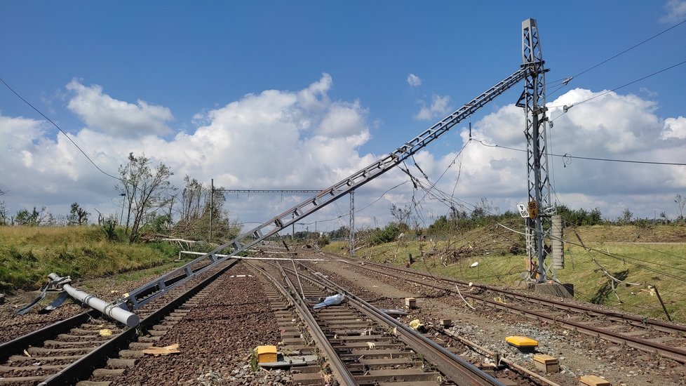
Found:
[[[255,347],[281,340],[262,281],[237,267],[206,291],[203,306],[191,309],[156,343],[157,347],[178,344],[180,354],[143,357],[112,385],[288,384],[283,371],[254,373],[250,367]]]

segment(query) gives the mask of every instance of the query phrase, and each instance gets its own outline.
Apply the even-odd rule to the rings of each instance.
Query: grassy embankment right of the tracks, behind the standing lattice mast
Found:
[[[565,268],[559,269],[557,275],[559,281],[574,284],[577,299],[666,320],[657,296],[648,287],[654,286],[672,319],[686,322],[686,227],[597,225],[579,227],[576,231],[586,248],[571,229],[565,229],[565,240],[570,242],[565,243]],[[495,228],[480,228],[438,241],[433,253],[429,253],[430,241],[396,241],[361,248],[356,256],[403,266],[408,253],[412,253],[413,269],[466,281],[523,286],[525,255],[490,253],[477,248],[485,240],[497,239],[499,234]],[[464,253],[470,246],[479,252]],[[494,244],[490,247],[498,249]],[[420,248],[424,258],[419,258]],[[332,243],[325,249],[344,254],[347,243]],[[455,257],[455,251],[462,253]],[[478,266],[470,267],[474,262],[479,262]],[[608,274],[621,280],[614,291]]]

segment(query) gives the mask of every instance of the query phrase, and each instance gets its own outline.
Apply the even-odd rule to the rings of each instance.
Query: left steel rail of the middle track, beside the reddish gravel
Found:
[[[327,362],[330,364],[332,367],[332,372],[334,375],[337,377],[338,382],[342,383],[343,385],[359,385],[359,383],[355,380],[354,376],[350,373],[348,370],[347,366],[344,364],[344,362],[340,359],[338,356],[336,350],[332,347],[331,343],[329,340],[326,338],[326,335],[324,334],[323,331],[321,331],[321,328],[317,324],[316,319],[314,319],[314,316],[312,315],[311,312],[309,312],[309,309],[307,308],[307,305],[305,304],[304,300],[297,296],[297,288],[292,284],[288,276],[286,276],[285,272],[283,271],[283,267],[281,267],[278,262],[276,263],[276,267],[278,267],[279,271],[281,272],[281,275],[283,277],[283,280],[286,282],[288,287],[292,290],[295,291],[296,295],[292,295],[286,288],[284,288],[278,281],[267,272],[262,267],[259,267],[251,262],[248,262],[248,265],[251,267],[257,269],[271,281],[271,284],[274,284],[276,289],[278,289],[281,294],[290,300],[295,307],[295,310],[300,314],[300,317],[305,321],[305,324],[307,325],[307,330],[309,331],[310,335],[312,338],[316,341],[317,347],[319,347],[321,350],[323,350],[324,354],[326,355]]]

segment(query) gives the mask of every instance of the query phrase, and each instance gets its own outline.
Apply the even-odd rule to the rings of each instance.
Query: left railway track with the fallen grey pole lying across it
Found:
[[[175,308],[199,293],[205,286],[233,267],[224,262],[194,285],[170,291],[156,307],[141,309],[140,325],[128,328],[90,310],[0,345],[0,385],[74,385],[90,376],[93,369],[106,366],[131,366],[130,361],[110,359],[136,342],[152,345],[154,336],[139,337],[140,331],[169,316]],[[170,299],[170,300],[169,300]],[[107,373],[107,371],[105,371]],[[111,373],[121,373],[114,371]]]

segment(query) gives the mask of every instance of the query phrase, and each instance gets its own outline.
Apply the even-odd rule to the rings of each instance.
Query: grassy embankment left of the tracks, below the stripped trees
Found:
[[[126,237],[120,237],[126,239]],[[0,227],[0,291],[34,290],[55,272],[133,280],[178,265],[168,244],[108,241],[100,227]]]

